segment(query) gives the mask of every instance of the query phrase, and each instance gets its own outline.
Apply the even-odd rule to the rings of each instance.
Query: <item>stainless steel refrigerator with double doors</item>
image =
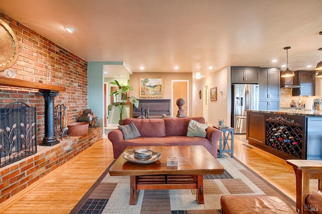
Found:
[[[246,134],[246,111],[258,110],[258,84],[233,85],[233,128],[235,134]]]

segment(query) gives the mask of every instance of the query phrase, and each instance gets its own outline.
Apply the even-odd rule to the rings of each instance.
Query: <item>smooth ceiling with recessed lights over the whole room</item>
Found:
[[[87,61],[131,72],[280,67],[286,46],[291,70],[322,60],[321,0],[0,0],[0,11]]]

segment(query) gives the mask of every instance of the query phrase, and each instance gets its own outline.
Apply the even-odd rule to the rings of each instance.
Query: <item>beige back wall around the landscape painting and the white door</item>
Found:
[[[133,73],[130,75],[130,85],[134,88],[130,91],[131,96],[139,97],[139,88],[140,76],[149,76],[149,77],[163,77],[164,79],[164,95],[163,99],[172,98],[172,80],[188,80],[189,81],[189,116],[192,116],[192,73],[157,73],[157,72],[148,72],[148,73]],[[145,97],[140,97],[145,98]],[[176,108],[175,106],[174,108]]]

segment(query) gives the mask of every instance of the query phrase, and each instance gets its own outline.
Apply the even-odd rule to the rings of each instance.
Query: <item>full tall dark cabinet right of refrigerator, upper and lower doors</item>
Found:
[[[259,72],[259,110],[278,110],[280,105],[280,69],[261,68]]]

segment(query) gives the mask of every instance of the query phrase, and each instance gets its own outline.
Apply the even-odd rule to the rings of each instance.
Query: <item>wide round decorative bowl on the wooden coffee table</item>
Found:
[[[144,149],[144,150],[147,150],[147,149]],[[140,151],[137,151],[136,149],[126,150],[122,153],[122,157],[127,161],[130,161],[133,163],[140,163],[140,164],[153,163],[161,157],[161,154],[159,152],[153,152],[151,150],[147,150],[147,151],[152,152],[150,157],[148,157],[149,152],[146,152],[146,151],[142,152],[141,149],[140,149]],[[138,157],[136,157],[136,153],[138,153],[137,155],[143,154],[143,157],[145,156],[147,158],[138,158]],[[140,157],[142,157],[142,156],[140,156]]]

